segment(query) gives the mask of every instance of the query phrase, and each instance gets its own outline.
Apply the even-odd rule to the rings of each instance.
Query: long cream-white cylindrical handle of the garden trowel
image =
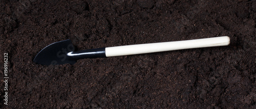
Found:
[[[158,43],[146,43],[139,45],[128,45],[118,47],[105,48],[106,57],[111,56],[124,56],[154,52],[164,52],[172,50],[182,49],[194,49],[204,47],[216,47],[216,46],[227,46],[230,43],[228,36],[202,38],[193,40],[183,41],[170,41],[170,42],[158,42]]]

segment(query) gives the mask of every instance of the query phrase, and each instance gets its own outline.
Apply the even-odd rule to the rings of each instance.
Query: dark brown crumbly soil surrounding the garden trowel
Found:
[[[9,0],[0,18],[0,108],[256,108],[254,0]],[[32,61],[65,39],[84,50],[217,36],[230,45],[74,65]]]

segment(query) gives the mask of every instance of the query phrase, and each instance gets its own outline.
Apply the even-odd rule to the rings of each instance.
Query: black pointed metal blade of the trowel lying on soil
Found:
[[[34,58],[35,63],[42,65],[51,64],[74,64],[76,59],[69,57],[67,54],[75,50],[71,40],[54,42],[42,49]]]

